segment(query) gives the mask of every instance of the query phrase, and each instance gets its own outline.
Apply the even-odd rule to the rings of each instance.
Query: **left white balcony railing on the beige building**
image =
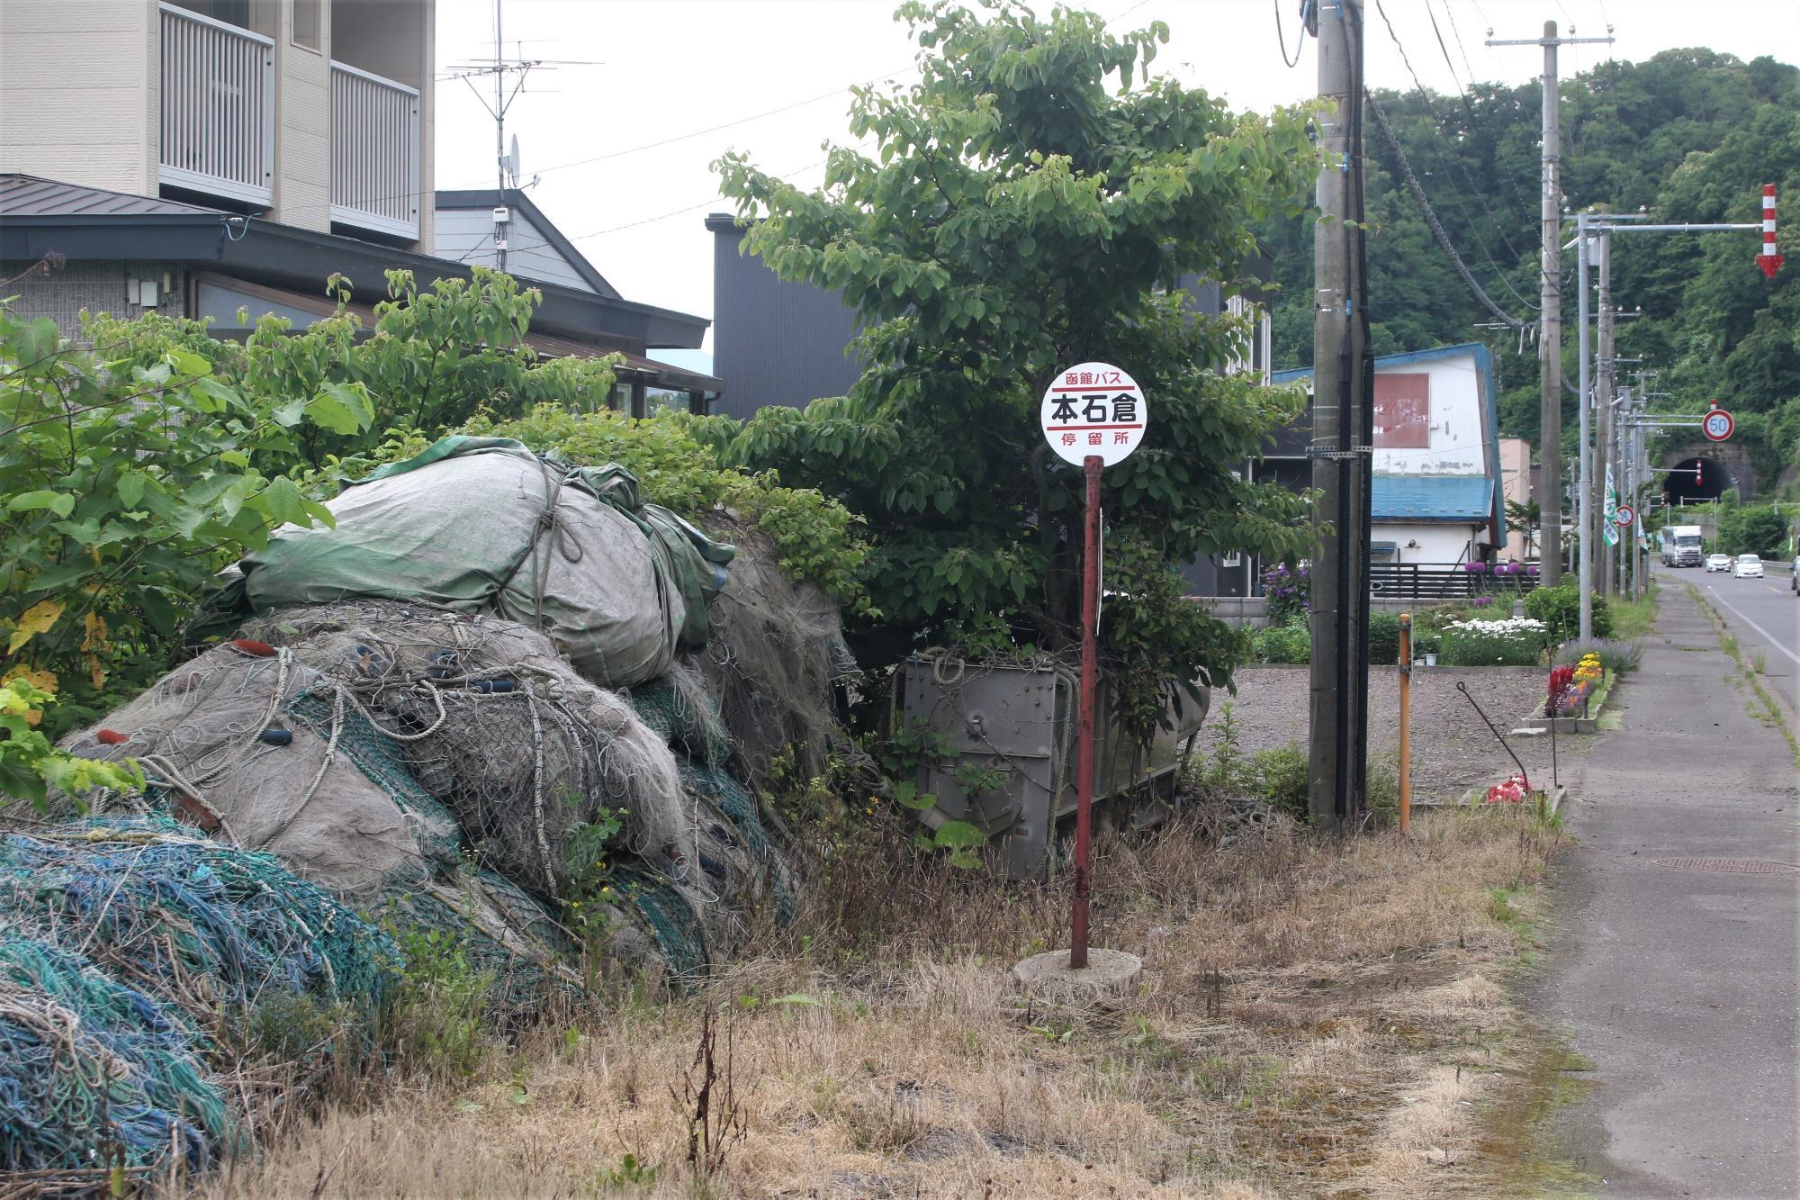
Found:
[[[270,204],[275,186],[275,43],[162,4],[160,178]]]

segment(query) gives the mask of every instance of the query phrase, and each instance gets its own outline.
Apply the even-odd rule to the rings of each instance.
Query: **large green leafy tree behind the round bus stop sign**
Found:
[[[1039,398],[1076,362],[1130,369],[1152,420],[1105,474],[1107,587],[1123,593],[1105,641],[1148,735],[1177,681],[1224,681],[1242,652],[1174,566],[1291,553],[1305,528],[1300,497],[1231,474],[1300,398],[1219,375],[1246,328],[1193,314],[1179,281],[1231,286],[1255,222],[1298,214],[1318,159],[1305,112],[1235,115],[1145,77],[1159,22],[1114,36],[1093,13],[981,7],[898,9],[922,79],[855,90],[851,133],[877,150],[832,150],[821,189],[718,162],[747,252],[841,292],[869,364],[850,396],[765,409],[731,449],[868,515],[889,616],[866,631],[873,661],[988,613],[1057,649],[1076,638],[1082,476],[1044,445]]]

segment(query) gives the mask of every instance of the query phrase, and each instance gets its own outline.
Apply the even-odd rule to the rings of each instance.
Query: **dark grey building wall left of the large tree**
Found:
[[[857,335],[855,314],[830,292],[783,283],[760,258],[738,252],[743,231],[731,218],[707,218],[713,231],[713,375],[725,395],[713,405],[751,416],[770,405],[805,407],[841,396],[862,375],[844,351]]]

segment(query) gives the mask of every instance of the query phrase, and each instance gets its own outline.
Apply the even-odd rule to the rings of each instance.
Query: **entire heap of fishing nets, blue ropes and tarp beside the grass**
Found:
[[[382,1005],[416,928],[517,1016],[576,955],[682,982],[792,914],[752,787],[839,744],[850,665],[767,541],[727,575],[626,472],[500,440],[331,508],[241,564],[227,640],[65,739],[146,795],[4,813],[0,1169],[205,1166],[236,1137],[223,1025]]]

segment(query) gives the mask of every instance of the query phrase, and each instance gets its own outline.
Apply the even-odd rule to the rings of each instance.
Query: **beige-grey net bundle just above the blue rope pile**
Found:
[[[63,748],[137,759],[151,802],[340,895],[414,883],[457,858],[455,820],[412,782],[355,695],[290,652],[220,645]],[[76,811],[68,796],[52,804],[52,816]]]

